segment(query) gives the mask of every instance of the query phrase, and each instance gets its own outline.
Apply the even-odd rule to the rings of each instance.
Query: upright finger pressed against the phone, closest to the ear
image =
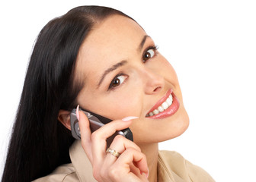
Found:
[[[85,153],[88,156],[90,162],[92,162],[90,123],[83,111],[78,111],[78,115],[79,115],[78,123],[79,123],[79,128],[81,133],[82,147],[85,150]]]

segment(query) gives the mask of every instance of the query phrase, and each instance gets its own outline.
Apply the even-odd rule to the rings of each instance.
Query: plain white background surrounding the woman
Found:
[[[130,15],[177,71],[190,127],[160,149],[180,152],[216,181],[255,181],[256,5],[248,0],[2,1],[1,176],[34,40],[49,20],[78,5]]]

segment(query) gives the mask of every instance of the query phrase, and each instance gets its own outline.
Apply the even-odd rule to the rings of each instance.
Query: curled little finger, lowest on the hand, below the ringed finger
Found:
[[[130,165],[134,164],[137,168],[139,168],[140,174],[149,175],[149,168],[146,161],[146,155],[142,152],[139,152],[136,149],[129,148],[126,149],[119,158],[117,158],[117,162],[115,162],[116,166],[122,166],[127,168]]]

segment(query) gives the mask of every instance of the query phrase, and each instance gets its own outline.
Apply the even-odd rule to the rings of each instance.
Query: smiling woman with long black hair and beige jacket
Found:
[[[91,133],[79,105],[113,121]],[[111,8],[74,8],[34,45],[2,181],[213,181],[178,153],[158,151],[188,123],[174,69],[142,27]],[[133,142],[118,135],[107,149],[127,127]]]

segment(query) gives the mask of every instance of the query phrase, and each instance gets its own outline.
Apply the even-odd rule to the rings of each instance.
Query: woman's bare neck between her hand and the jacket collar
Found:
[[[158,143],[139,145],[142,153],[146,155],[149,167],[149,181],[157,181]]]

